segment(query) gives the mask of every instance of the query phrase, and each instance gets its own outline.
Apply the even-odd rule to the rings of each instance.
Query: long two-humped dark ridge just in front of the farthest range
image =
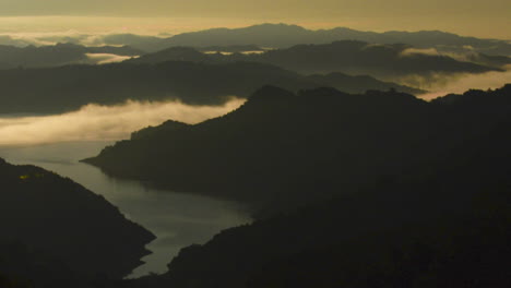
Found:
[[[163,61],[235,62],[250,61],[274,64],[299,73],[343,72],[352,75],[368,74],[385,81],[403,76],[428,77],[437,73],[484,73],[501,69],[459,61],[448,56],[430,55],[408,45],[372,45],[364,41],[343,40],[324,45],[297,45],[286,49],[261,53],[203,53],[193,48],[174,47],[147,53],[132,63],[157,63]],[[507,57],[487,57],[488,61],[502,61]]]

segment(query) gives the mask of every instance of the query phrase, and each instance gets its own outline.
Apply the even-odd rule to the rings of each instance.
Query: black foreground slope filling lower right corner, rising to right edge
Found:
[[[432,131],[444,131],[424,143],[433,153],[412,169],[385,170],[357,193],[225,230],[183,249],[166,275],[115,285],[509,287],[511,86],[428,107],[442,118]]]

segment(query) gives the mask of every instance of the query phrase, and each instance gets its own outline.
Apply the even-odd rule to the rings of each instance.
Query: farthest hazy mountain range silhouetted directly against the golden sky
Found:
[[[261,24],[242,28],[213,28],[182,33],[167,38],[132,34],[108,35],[106,45],[129,45],[148,52],[175,46],[207,47],[257,45],[271,48],[289,48],[300,44],[330,44],[337,40],[359,40],[371,44],[408,44],[418,48],[437,48],[440,51],[475,50],[488,55],[511,56],[509,40],[463,37],[439,31],[421,32],[361,32],[346,27],[311,31],[297,25]]]

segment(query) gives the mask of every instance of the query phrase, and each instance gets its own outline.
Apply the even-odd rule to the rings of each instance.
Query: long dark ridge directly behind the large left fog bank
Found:
[[[421,93],[419,89],[375,79],[367,81],[338,74],[309,79],[263,63],[173,61],[155,64],[69,65],[0,70],[0,113],[52,113],[75,110],[91,103],[114,105],[128,99],[179,99],[193,105],[219,105],[229,99],[228,96],[248,97],[266,84],[292,91],[328,84],[350,93],[368,88]]]

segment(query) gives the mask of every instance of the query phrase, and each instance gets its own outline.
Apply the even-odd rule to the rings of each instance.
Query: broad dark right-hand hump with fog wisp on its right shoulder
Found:
[[[371,45],[364,41],[335,41],[324,45],[298,45],[246,56],[251,61],[272,63],[302,73],[344,72],[381,79],[432,73],[483,73],[498,71],[447,56],[408,52],[408,45]]]

